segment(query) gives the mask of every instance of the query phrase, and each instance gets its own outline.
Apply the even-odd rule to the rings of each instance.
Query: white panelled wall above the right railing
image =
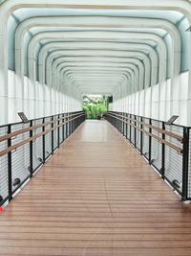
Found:
[[[126,112],[164,121],[171,115],[179,115],[177,124],[191,126],[188,86],[188,72],[184,72],[177,78],[168,79],[139,93],[131,94],[125,101],[115,101],[113,110],[118,111],[118,107],[121,108],[123,103],[125,106],[122,108]]]

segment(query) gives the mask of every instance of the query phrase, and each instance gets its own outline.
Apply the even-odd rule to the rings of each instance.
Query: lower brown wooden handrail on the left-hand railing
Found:
[[[40,133],[38,133],[38,134],[36,134],[36,135],[33,135],[32,137],[30,137],[30,138],[28,138],[28,139],[25,139],[25,140],[23,140],[23,141],[20,141],[20,142],[18,142],[18,143],[16,143],[16,144],[12,145],[11,147],[6,148],[6,149],[3,150],[3,151],[0,151],[0,157],[3,156],[3,155],[5,155],[5,154],[7,154],[7,153],[9,153],[10,151],[16,150],[17,148],[19,148],[19,147],[21,147],[21,146],[23,146],[23,145],[25,145],[25,144],[31,142],[32,140],[35,140],[36,138],[41,137],[42,135],[45,135],[45,134],[51,132],[51,131],[54,130],[55,128],[60,128],[60,127],[62,127],[62,126],[64,126],[64,125],[70,123],[71,121],[74,121],[75,119],[77,119],[77,118],[79,118],[80,116],[83,116],[83,115],[85,115],[85,114],[84,114],[84,113],[83,113],[83,114],[80,114],[80,113],[79,113],[78,116],[74,117],[74,118],[71,119],[71,120],[62,122],[61,124],[59,124],[59,125],[57,125],[57,126],[54,126],[53,128],[49,128],[49,129],[47,129],[47,130],[45,130],[45,131],[42,131],[42,132],[40,132]],[[64,119],[64,118],[62,118],[62,119]],[[62,119],[61,119],[61,120],[62,120]],[[52,121],[52,122],[48,122],[48,123],[53,123],[53,121]],[[31,128],[33,128],[33,127],[31,127]],[[10,134],[11,134],[11,133],[10,133]],[[23,133],[20,133],[20,134],[23,134]]]

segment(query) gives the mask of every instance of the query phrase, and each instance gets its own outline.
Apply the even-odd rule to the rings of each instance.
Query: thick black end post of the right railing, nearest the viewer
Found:
[[[188,164],[189,164],[189,128],[183,128],[182,155],[182,199],[187,199],[188,193]]]

